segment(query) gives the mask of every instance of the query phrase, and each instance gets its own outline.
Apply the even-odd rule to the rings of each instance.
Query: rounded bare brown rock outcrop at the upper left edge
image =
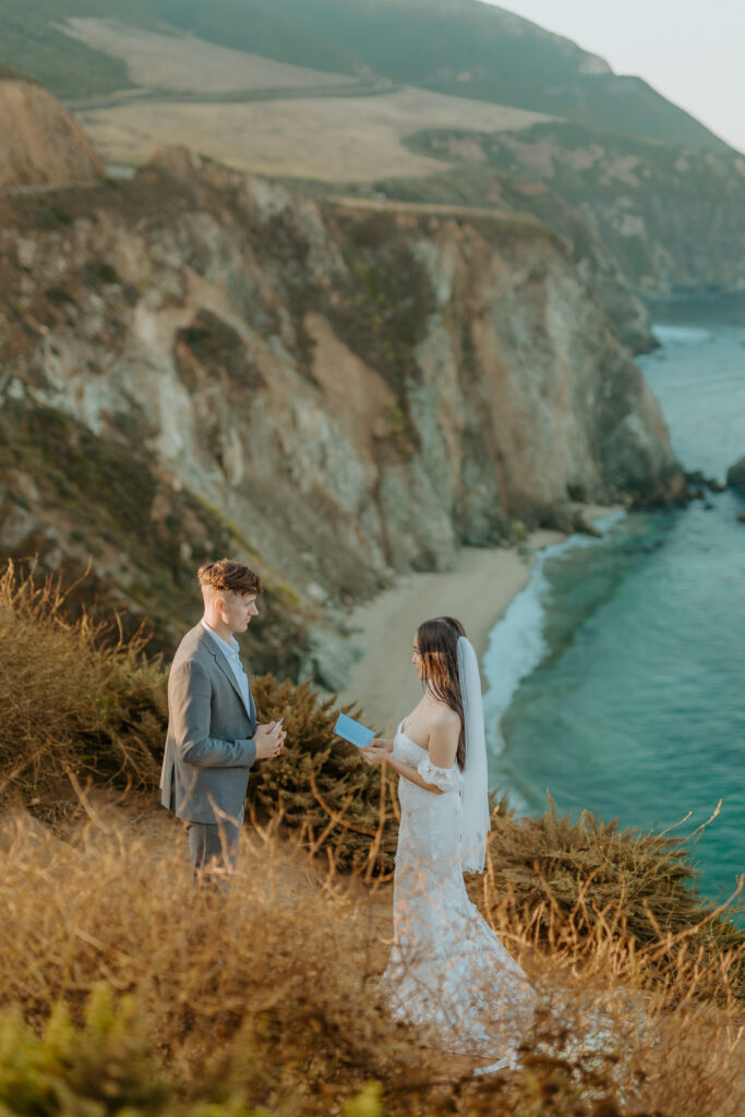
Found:
[[[96,182],[104,164],[85,132],[41,86],[0,69],[0,191]]]

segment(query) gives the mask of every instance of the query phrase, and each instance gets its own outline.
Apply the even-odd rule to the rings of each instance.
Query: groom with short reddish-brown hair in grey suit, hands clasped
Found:
[[[236,865],[248,772],[277,756],[278,723],[257,725],[236,632],[258,617],[261,580],[230,558],[198,571],[204,615],[179,645],[169,675],[161,803],[183,819],[194,875],[214,881]]]

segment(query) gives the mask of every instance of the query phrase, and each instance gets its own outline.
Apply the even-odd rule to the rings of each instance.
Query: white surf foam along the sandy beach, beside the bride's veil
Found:
[[[609,513],[595,522],[595,527],[604,533],[624,515],[623,510]],[[548,653],[544,633],[545,599],[550,589],[544,571],[546,560],[565,551],[594,546],[599,542],[601,541],[591,535],[570,535],[561,543],[538,551],[528,584],[513,598],[505,615],[491,629],[489,643],[481,659],[481,671],[488,684],[484,696],[484,720],[493,755],[500,753],[504,747],[499,723],[515,691]]]

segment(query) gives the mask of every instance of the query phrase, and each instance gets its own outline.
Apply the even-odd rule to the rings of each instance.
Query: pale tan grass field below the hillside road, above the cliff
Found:
[[[143,102],[78,115],[107,162],[143,163],[154,149],[178,143],[241,171],[323,182],[441,173],[448,162],[417,155],[403,143],[422,128],[502,132],[546,120],[414,88],[246,104]]]

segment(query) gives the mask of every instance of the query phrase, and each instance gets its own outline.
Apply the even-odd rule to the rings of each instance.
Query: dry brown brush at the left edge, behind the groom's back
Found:
[[[68,591],[69,592],[69,591]],[[9,563],[0,574],[0,801],[44,795],[70,768],[152,786],[163,670],[115,624],[70,620],[66,593]]]

